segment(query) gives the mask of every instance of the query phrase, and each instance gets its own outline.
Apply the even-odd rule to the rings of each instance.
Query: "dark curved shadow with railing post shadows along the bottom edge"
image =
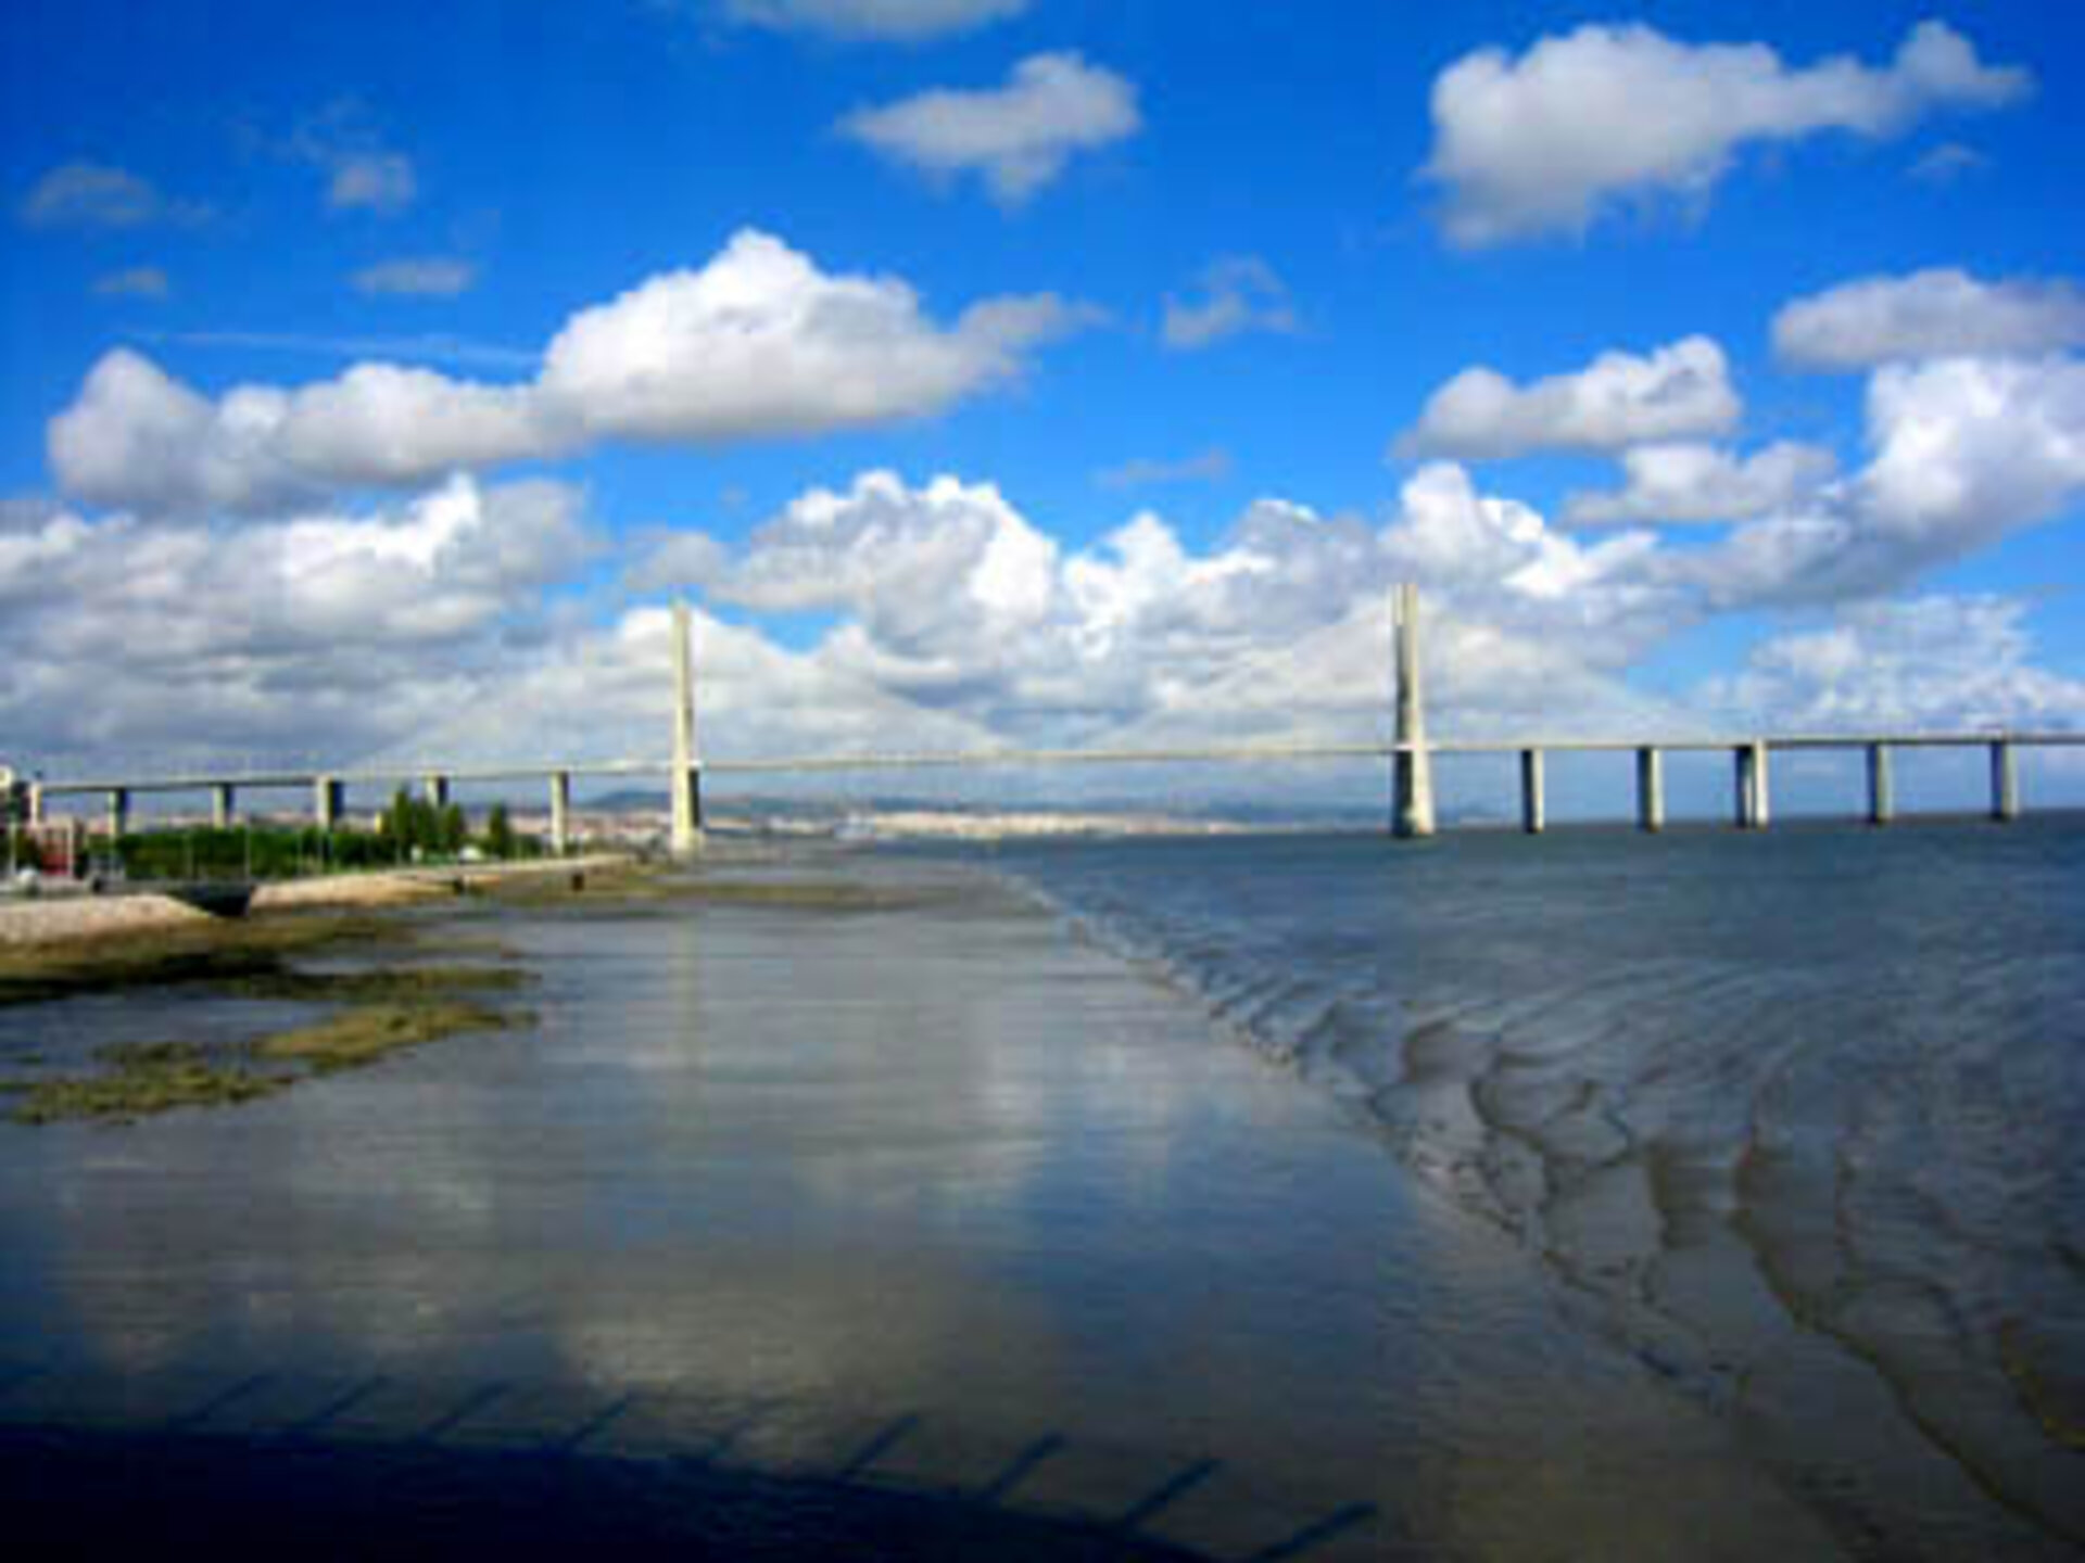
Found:
[[[1389,1530],[1370,1503],[1086,1430],[177,1365],[0,1371],[0,1500],[29,1550],[190,1530],[229,1557],[713,1557],[721,1538],[763,1559],[1334,1563],[1378,1557]]]

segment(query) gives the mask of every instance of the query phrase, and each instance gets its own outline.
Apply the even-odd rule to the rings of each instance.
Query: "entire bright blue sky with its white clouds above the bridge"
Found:
[[[19,0],[0,729],[2079,725],[2081,29]]]

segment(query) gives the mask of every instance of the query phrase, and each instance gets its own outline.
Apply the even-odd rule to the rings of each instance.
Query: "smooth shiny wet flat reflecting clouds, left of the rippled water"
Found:
[[[999,892],[477,919],[538,1029],[0,1132],[0,1357],[919,1413],[1480,1548],[1816,1540],[1339,1107]]]

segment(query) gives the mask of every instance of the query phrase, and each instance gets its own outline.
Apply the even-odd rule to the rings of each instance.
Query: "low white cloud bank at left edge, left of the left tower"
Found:
[[[500,634],[596,546],[553,483],[238,529],[54,508],[0,531],[0,725],[54,771],[348,761],[496,700]]]

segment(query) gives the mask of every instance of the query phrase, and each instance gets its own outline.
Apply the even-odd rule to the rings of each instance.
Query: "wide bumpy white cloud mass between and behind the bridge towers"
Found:
[[[1380,531],[1266,498],[1207,550],[1149,511],[1065,550],[988,483],[865,473],[736,550],[669,540],[653,579],[686,563],[713,602],[838,615],[824,667],[980,742],[1362,742],[1387,719],[1384,604],[1401,577],[1432,594],[1462,721],[1539,709],[1562,686],[1630,706],[1620,671],[1678,600],[1633,579],[1651,550],[1585,546],[1447,465],[1407,481]],[[1576,634],[1589,619],[1608,634]]]

